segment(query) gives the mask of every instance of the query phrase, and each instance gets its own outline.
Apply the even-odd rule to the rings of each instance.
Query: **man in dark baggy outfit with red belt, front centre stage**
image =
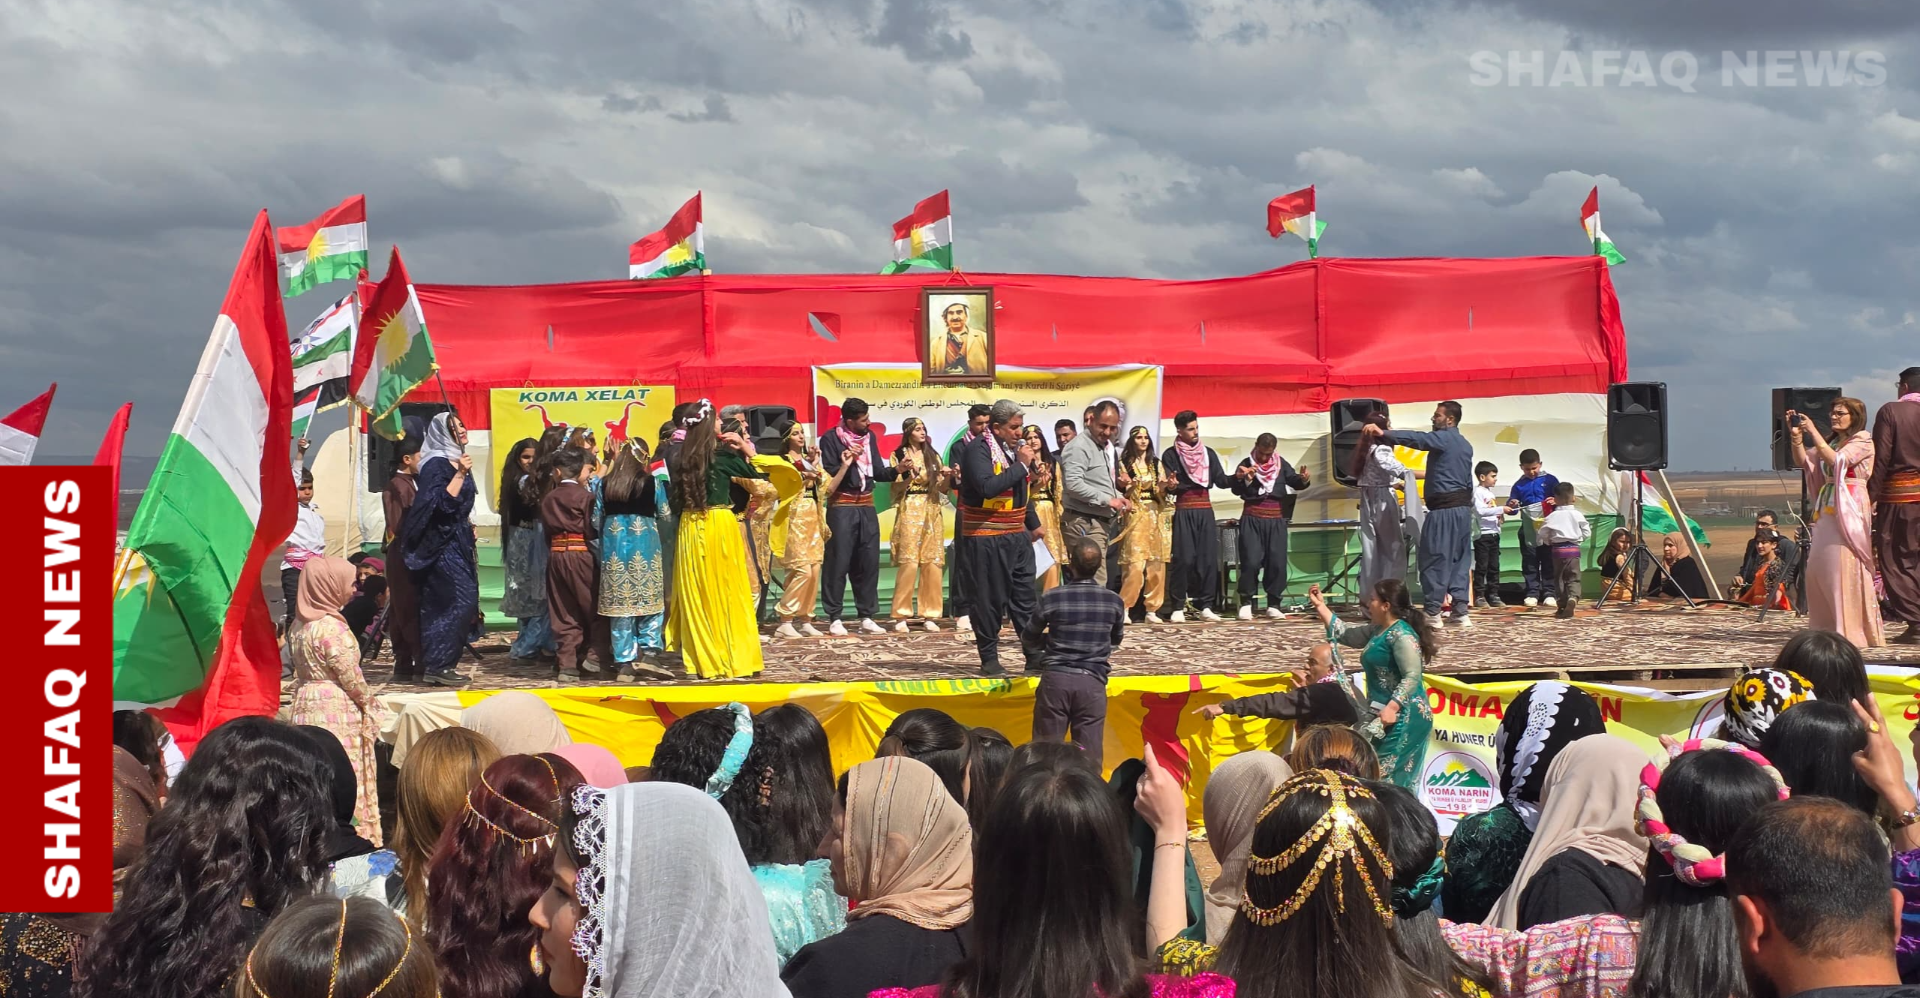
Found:
[[[1000,622],[1008,616],[1027,672],[1041,668],[1039,647],[1027,637],[1033,622],[1033,539],[1041,535],[1041,518],[1027,505],[1027,470],[1039,451],[1021,443],[1023,424],[1020,405],[1000,399],[987,416],[987,436],[960,453],[960,535],[981,676],[1006,676],[1000,668]]]

